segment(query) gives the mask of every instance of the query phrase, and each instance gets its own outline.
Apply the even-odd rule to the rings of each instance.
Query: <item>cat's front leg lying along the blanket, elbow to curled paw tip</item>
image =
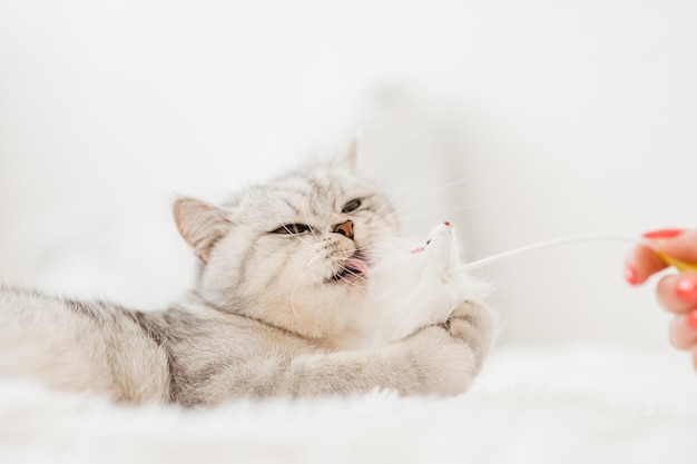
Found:
[[[289,363],[285,379],[293,395],[357,393],[375,387],[402,394],[460,394],[480,371],[495,326],[489,307],[465,300],[444,323],[423,327],[400,342],[300,356]]]

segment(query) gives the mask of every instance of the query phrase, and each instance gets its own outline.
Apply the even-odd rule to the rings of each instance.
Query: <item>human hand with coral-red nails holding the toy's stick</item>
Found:
[[[697,263],[697,229],[664,229],[644,235],[651,246],[639,245],[625,258],[625,279],[644,284],[651,275],[668,267],[656,250],[685,263]],[[674,315],[668,326],[673,346],[688,351],[697,369],[697,273],[664,276],[656,286],[658,304]]]

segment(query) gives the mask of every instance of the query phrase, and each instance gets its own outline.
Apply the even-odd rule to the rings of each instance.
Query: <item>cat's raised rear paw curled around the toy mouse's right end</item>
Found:
[[[481,303],[462,302],[442,326],[451,337],[472,349],[474,367],[479,371],[495,337],[497,323],[493,313]]]

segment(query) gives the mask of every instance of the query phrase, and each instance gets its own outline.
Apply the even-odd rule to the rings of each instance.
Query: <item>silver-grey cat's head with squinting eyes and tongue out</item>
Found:
[[[387,197],[352,166],[306,166],[220,206],[178,199],[177,227],[202,263],[197,293],[306,336],[344,330],[365,298],[371,246],[397,234]]]

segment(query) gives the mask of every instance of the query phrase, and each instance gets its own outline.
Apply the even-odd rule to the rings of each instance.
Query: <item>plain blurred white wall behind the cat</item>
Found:
[[[161,304],[193,275],[175,192],[218,198],[357,127],[406,229],[457,220],[472,258],[694,225],[695,24],[687,0],[0,0],[0,278]],[[395,87],[406,109],[375,110]],[[665,347],[626,249],[485,269],[502,343]]]

